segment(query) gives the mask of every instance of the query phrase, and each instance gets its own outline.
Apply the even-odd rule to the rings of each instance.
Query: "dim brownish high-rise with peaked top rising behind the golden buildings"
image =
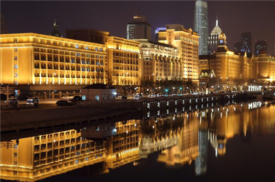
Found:
[[[135,15],[132,21],[127,23],[127,39],[151,39],[151,25],[145,16]]]

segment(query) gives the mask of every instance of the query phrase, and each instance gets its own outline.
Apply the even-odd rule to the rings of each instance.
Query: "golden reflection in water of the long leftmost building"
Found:
[[[19,145],[0,149],[1,179],[36,181],[104,162],[103,146],[102,141],[81,138],[75,130],[19,139]]]

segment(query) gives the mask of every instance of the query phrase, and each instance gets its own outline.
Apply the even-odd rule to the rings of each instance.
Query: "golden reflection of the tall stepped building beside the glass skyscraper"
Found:
[[[182,166],[191,164],[198,156],[198,122],[196,113],[184,113],[181,117],[183,126],[177,129],[176,146],[166,149],[158,155],[157,161],[166,163],[167,166]]]

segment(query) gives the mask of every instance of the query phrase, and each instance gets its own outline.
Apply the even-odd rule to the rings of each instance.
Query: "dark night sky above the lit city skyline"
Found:
[[[138,12],[151,24],[152,39],[156,27],[183,24],[193,29],[195,1],[0,1],[9,33],[50,34],[56,19],[65,37],[65,29],[94,28],[126,37],[126,24]],[[240,41],[242,32],[255,40],[267,41],[267,54],[273,54],[275,1],[207,1],[209,32],[218,25],[226,34],[229,49]],[[254,48],[252,48],[254,53]]]

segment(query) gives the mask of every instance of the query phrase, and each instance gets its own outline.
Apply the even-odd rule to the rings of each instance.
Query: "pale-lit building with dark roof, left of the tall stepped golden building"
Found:
[[[140,42],[142,79],[182,80],[183,64],[176,47],[148,39],[136,41]]]

